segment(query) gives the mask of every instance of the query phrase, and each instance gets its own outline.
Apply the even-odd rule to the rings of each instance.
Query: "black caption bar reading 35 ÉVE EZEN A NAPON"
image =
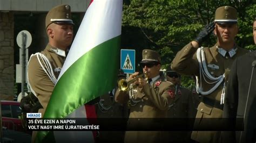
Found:
[[[242,118],[28,118],[28,131],[244,131]]]

